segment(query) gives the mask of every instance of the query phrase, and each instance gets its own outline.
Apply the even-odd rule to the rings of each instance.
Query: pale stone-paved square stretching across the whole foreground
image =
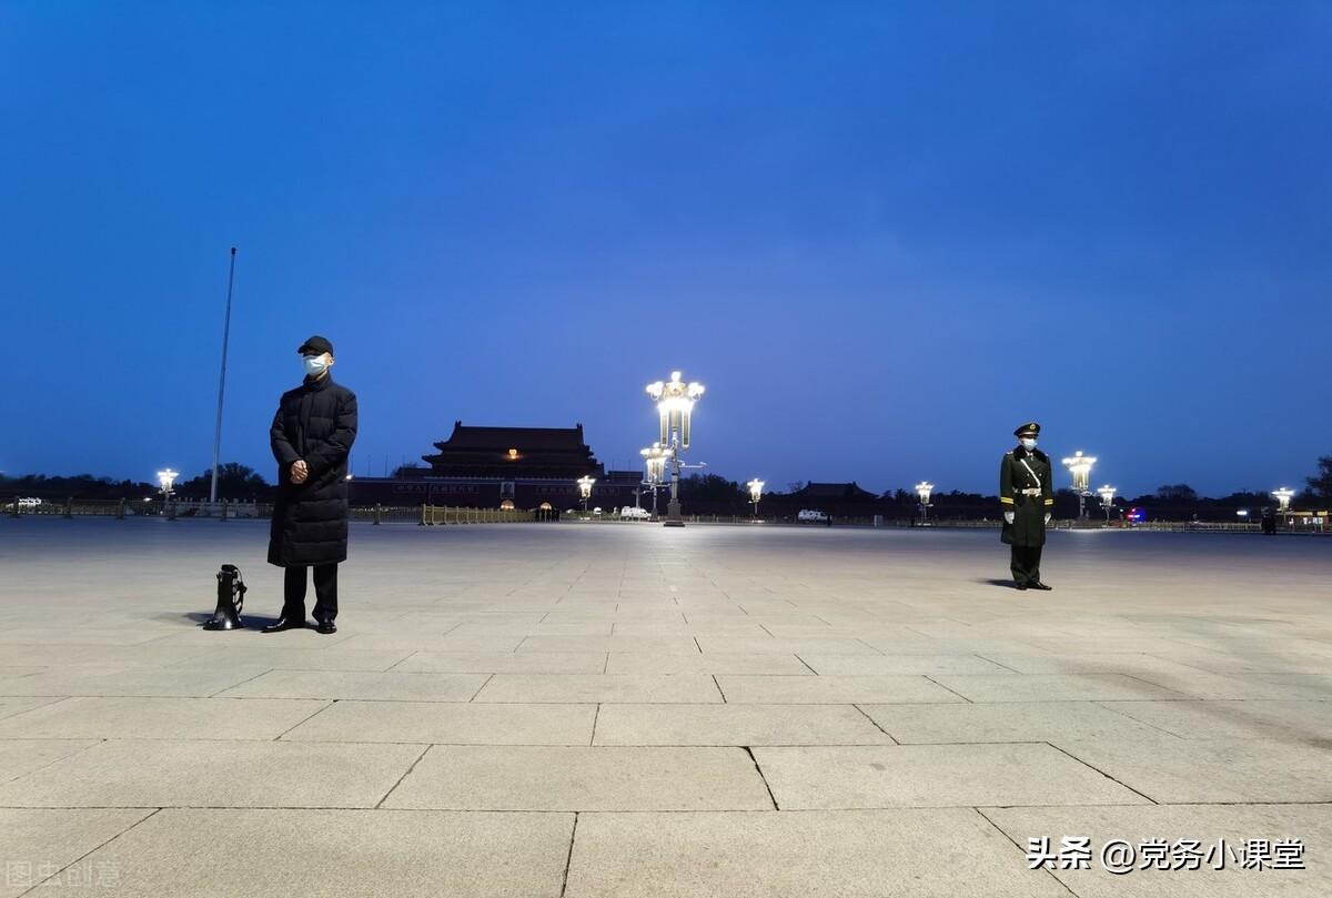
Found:
[[[265,544],[0,520],[0,898],[1332,894],[1332,540],[356,525],[200,630]]]

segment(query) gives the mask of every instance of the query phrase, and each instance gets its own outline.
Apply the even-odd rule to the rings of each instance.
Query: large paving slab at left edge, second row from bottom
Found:
[[[418,745],[100,742],[4,783],[0,807],[374,807],[420,755]]]

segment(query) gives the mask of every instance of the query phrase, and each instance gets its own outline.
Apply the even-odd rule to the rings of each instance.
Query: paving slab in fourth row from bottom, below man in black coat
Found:
[[[232,698],[361,698],[466,702],[480,691],[485,682],[485,674],[270,670],[220,694]]]

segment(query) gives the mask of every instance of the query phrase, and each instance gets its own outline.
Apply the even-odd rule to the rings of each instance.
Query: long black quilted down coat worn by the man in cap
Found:
[[[282,393],[269,432],[277,458],[277,504],[268,562],[280,568],[346,561],[346,458],[356,441],[356,393],[332,374]],[[310,476],[292,482],[304,458]]]

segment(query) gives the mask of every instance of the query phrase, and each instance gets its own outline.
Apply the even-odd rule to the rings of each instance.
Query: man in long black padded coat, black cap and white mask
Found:
[[[346,561],[346,460],[356,440],[356,393],[333,382],[333,344],[310,337],[297,350],[305,382],[282,393],[269,440],[277,502],[268,562],[286,569],[281,618],[264,633],[305,626],[305,569],[314,569],[314,624],[336,633],[337,566]]]

